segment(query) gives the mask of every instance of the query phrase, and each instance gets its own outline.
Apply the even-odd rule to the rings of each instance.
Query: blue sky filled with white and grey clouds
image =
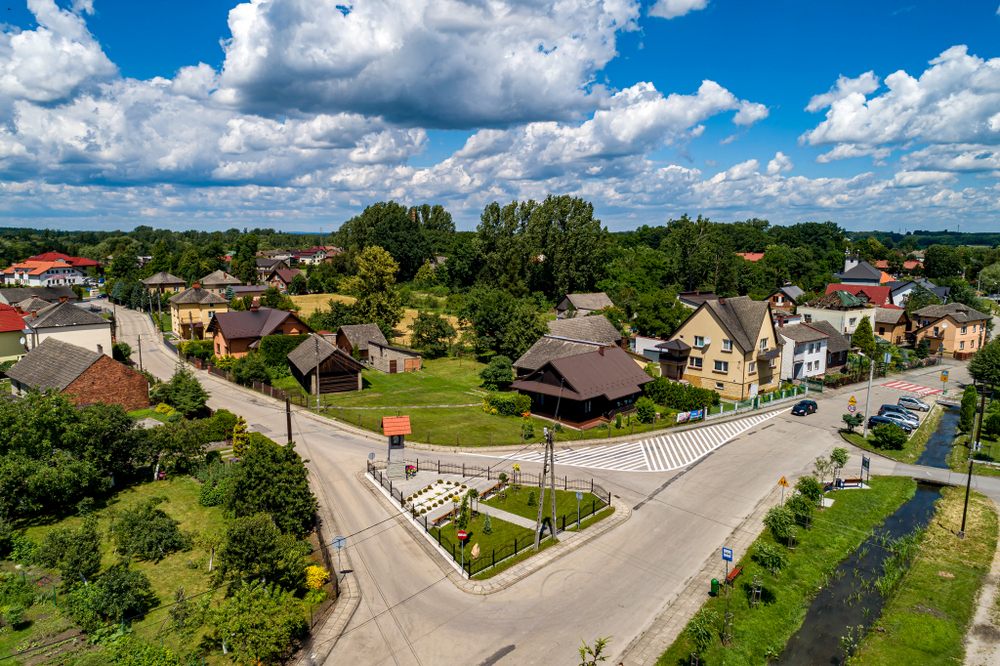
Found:
[[[0,224],[1000,228],[997,0],[337,2],[6,0]]]

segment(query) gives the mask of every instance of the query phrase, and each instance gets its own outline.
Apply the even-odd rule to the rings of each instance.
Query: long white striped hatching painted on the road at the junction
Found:
[[[667,472],[690,465],[754,426],[774,418],[782,411],[784,410],[779,409],[767,414],[658,435],[637,442],[588,446],[575,450],[564,448],[556,451],[556,465],[621,472]],[[505,456],[486,455],[486,457],[512,462],[541,463],[544,452],[528,451]]]

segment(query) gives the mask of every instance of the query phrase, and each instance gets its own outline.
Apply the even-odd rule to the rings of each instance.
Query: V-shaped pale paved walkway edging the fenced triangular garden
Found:
[[[591,525],[579,533],[572,533],[566,536],[567,533],[563,532],[564,536],[554,546],[550,546],[537,555],[504,569],[492,578],[473,580],[460,574],[451,562],[446,560],[436,548],[433,548],[420,529],[401,513],[398,507],[389,502],[389,499],[381,492],[379,486],[373,483],[364,471],[359,471],[355,476],[368,489],[368,492],[382,504],[383,508],[392,514],[396,522],[402,525],[410,536],[413,537],[414,541],[420,545],[424,552],[430,555],[431,559],[441,568],[441,571],[455,587],[467,594],[486,596],[505,590],[531,574],[544,569],[552,562],[569,555],[581,546],[618,527],[632,517],[632,509],[629,507],[623,504],[612,504],[614,513],[604,520]]]

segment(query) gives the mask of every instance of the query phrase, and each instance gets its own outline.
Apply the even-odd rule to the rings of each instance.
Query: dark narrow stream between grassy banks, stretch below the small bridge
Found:
[[[899,507],[885,519],[882,528],[876,530],[878,536],[866,539],[840,563],[829,583],[813,599],[802,627],[789,639],[777,664],[837,666],[844,663],[840,643],[841,637],[848,633],[847,628],[863,627],[863,635],[879,619],[886,602],[874,585],[862,585],[874,583],[882,575],[882,561],[889,553],[880,547],[880,537],[897,539],[925,527],[934,513],[934,502],[941,497],[940,491],[938,486],[918,485],[913,499]],[[834,499],[845,492],[865,491],[841,490],[834,494]]]

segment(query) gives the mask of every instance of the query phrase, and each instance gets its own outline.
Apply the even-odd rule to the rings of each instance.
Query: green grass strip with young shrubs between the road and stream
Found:
[[[719,633],[713,633],[710,646],[701,655],[701,663],[756,666],[768,663],[764,655],[769,649],[783,649],[801,626],[810,600],[825,585],[828,572],[861,544],[869,530],[913,497],[916,491],[916,483],[908,478],[877,476],[872,477],[871,485],[871,490],[835,493],[836,502],[814,517],[814,527],[799,529],[798,547],[794,551],[778,544],[787,554],[788,564],[777,580],[754,563],[749,553],[740,560],[738,564],[743,565],[744,570],[732,593],[733,599],[742,600],[743,583],[740,580],[749,583],[755,574],[760,574],[771,601],[756,610],[750,609],[747,603],[731,603],[729,610],[734,613],[735,643],[724,648]],[[769,531],[759,538],[775,543]],[[702,608],[718,614],[721,630],[726,598],[711,598]],[[657,664],[686,666],[694,649],[690,639],[682,633],[660,656]]]

